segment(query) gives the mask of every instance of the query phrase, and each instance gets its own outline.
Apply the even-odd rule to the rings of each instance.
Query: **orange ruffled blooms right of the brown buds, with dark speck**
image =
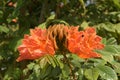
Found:
[[[104,48],[100,41],[101,37],[96,35],[94,28],[89,27],[85,31],[78,31],[78,27],[70,27],[68,30],[68,50],[81,58],[101,57],[94,52],[95,49]]]

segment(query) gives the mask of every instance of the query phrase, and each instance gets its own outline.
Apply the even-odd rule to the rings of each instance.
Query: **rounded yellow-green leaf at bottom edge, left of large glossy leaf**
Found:
[[[86,69],[85,76],[88,80],[97,80],[99,76],[98,69],[96,68]]]

